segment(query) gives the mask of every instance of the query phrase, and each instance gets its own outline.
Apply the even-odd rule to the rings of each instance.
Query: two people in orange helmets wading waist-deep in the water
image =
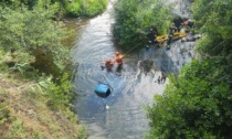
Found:
[[[112,71],[112,68],[114,67],[114,64],[117,63],[117,68],[122,68],[124,64],[123,58],[124,58],[124,55],[119,54],[118,52],[115,52],[114,61],[112,61],[110,58],[107,58],[104,66],[107,68],[107,71]]]

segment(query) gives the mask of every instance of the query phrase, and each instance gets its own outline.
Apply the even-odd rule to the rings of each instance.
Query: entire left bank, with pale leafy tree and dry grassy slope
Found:
[[[43,0],[33,8],[20,1],[0,4],[2,138],[87,138],[71,110],[70,47],[62,43],[70,32],[53,21],[57,10]]]

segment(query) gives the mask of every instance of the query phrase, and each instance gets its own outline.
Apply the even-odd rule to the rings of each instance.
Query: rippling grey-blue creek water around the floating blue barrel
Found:
[[[76,67],[73,73],[75,103],[81,124],[86,126],[89,139],[140,139],[149,130],[148,119],[143,106],[161,94],[166,83],[158,84],[161,73],[178,73],[192,60],[194,42],[176,41],[167,51],[156,46],[146,47],[125,57],[120,73],[102,71],[101,63],[114,58],[118,50],[112,41],[110,25],[114,23],[113,7],[91,20],[74,22],[78,35],[72,58]],[[143,67],[149,63],[151,68]],[[99,83],[109,84],[113,93],[103,99],[94,93]],[[105,106],[109,106],[106,109]]]

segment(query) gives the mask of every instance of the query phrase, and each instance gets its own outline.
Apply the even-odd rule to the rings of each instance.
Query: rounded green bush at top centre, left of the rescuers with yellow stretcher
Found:
[[[156,26],[159,34],[166,34],[172,19],[170,7],[161,0],[118,0],[115,4],[114,38],[126,50],[141,46],[147,42],[151,26]]]

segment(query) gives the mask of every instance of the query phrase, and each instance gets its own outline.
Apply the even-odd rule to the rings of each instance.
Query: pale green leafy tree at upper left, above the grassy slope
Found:
[[[62,23],[52,21],[57,6],[53,4],[45,9],[43,4],[39,1],[32,11],[23,6],[15,10],[0,7],[0,45],[6,52],[29,53],[34,56],[35,63],[41,60],[39,53],[43,56],[51,55],[56,68],[62,70],[67,62],[68,51],[61,42],[68,34],[63,30]],[[22,60],[21,54],[14,55],[14,58]],[[27,58],[18,61],[18,65],[29,64]]]

